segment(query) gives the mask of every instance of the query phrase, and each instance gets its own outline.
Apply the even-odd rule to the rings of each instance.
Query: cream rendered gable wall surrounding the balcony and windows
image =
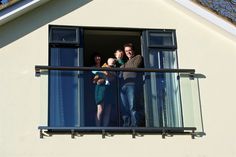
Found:
[[[48,24],[176,29],[180,68],[201,80],[206,136],[59,135],[39,138],[40,78],[48,64]],[[236,156],[236,37],[172,0],[52,0],[0,26],[0,156]]]

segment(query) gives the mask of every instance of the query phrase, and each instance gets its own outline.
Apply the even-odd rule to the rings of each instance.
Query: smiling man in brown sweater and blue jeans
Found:
[[[143,57],[135,55],[133,44],[124,45],[124,52],[128,61],[121,68],[143,68]],[[123,126],[137,127],[141,125],[140,117],[140,93],[142,93],[142,73],[140,72],[123,72],[123,83],[121,87],[121,114]]]

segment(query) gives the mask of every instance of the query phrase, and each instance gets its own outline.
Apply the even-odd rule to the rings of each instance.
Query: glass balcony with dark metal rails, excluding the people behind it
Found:
[[[99,126],[95,121],[92,71],[113,75],[105,85],[109,96],[105,94],[104,108],[109,108],[109,116],[104,116]],[[137,90],[138,127],[123,127],[120,76],[124,72],[142,78]],[[70,134],[72,138],[84,134],[101,134],[103,138],[114,134],[130,134],[133,138],[145,134],[160,134],[163,138],[205,135],[199,88],[199,79],[205,76],[193,69],[35,66],[35,74],[41,84],[41,138],[54,134]]]

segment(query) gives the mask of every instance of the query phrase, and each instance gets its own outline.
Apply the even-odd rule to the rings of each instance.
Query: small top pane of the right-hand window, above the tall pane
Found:
[[[172,32],[150,32],[148,46],[175,46]]]

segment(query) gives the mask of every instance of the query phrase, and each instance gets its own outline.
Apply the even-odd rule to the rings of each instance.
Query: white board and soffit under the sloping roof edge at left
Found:
[[[49,0],[23,0],[0,11],[0,25],[21,16]]]

